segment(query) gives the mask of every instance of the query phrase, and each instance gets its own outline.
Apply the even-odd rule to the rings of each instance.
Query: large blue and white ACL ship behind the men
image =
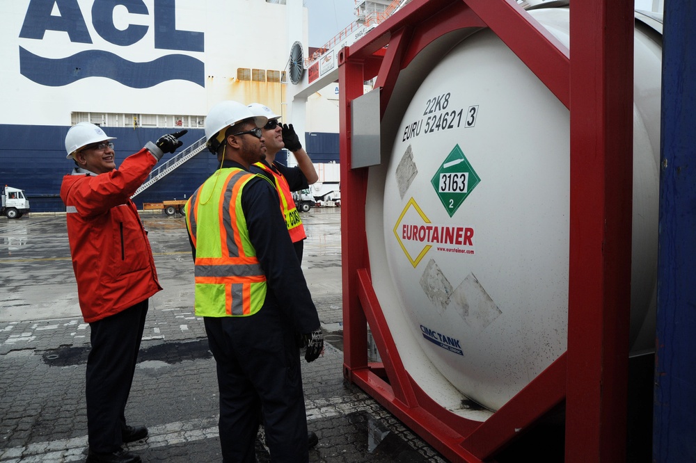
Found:
[[[308,42],[302,0],[17,0],[0,13],[0,182],[25,190],[34,211],[63,207],[63,140],[77,122],[117,138],[117,165],[175,129],[189,130],[182,149],[196,143],[224,99],[267,104],[304,131],[305,111],[295,120],[286,101],[291,46],[306,54]],[[181,198],[215,164],[203,150],[136,203]]]

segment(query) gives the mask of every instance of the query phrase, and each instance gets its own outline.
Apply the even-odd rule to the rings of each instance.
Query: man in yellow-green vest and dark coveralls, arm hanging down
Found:
[[[278,213],[278,195],[265,177],[249,172],[264,156],[260,127],[266,122],[237,101],[210,109],[205,136],[221,168],[184,206],[194,308],[216,362],[223,463],[256,462],[260,409],[271,461],[308,461],[295,333],[311,343],[307,362],[324,346],[315,336],[319,316]]]

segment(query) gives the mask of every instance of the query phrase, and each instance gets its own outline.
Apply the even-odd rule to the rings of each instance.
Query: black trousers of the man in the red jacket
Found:
[[[87,357],[87,434],[90,449],[111,453],[123,444],[125,408],[133,383],[148,300],[90,323]]]

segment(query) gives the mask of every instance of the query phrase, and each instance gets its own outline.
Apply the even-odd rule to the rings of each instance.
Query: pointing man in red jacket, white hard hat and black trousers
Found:
[[[121,448],[148,435],[126,425],[128,400],[148,313],[148,298],[160,291],[147,234],[130,197],[164,153],[182,145],[187,131],[148,142],[116,169],[114,137],[80,122],[65,136],[68,159],[77,165],[63,177],[72,268],[80,309],[90,325],[87,357],[88,463],[137,463]]]

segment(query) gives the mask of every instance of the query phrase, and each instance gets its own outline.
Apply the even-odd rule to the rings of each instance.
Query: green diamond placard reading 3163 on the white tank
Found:
[[[464,152],[459,145],[455,145],[430,183],[445,206],[445,211],[452,217],[480,181],[481,178],[471,167]]]

